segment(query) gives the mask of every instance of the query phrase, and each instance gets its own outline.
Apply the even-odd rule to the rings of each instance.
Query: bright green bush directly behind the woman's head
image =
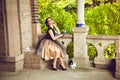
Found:
[[[71,15],[69,12],[59,8],[55,3],[52,2],[50,2],[42,10],[39,9],[39,20],[43,33],[46,32],[47,29],[44,23],[47,17],[52,17],[61,31],[68,30],[68,33],[72,34],[72,27],[75,25],[75,20],[73,15]]]

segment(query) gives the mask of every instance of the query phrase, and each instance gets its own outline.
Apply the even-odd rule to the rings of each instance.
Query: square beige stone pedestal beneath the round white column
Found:
[[[77,67],[85,68],[88,67],[88,55],[87,55],[87,44],[86,35],[88,27],[75,27],[73,28],[74,33],[74,61]]]

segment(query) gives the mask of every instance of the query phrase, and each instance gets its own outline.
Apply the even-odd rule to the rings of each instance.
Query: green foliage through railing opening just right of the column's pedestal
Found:
[[[97,56],[96,48],[91,43],[87,43],[87,45],[89,60],[94,61],[94,58]]]

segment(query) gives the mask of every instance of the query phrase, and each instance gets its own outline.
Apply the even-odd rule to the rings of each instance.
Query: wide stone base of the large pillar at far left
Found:
[[[14,57],[0,56],[0,71],[16,72],[23,69],[24,55]]]

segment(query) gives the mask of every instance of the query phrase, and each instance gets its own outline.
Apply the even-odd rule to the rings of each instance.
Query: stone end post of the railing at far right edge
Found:
[[[115,72],[115,76],[116,76],[116,78],[120,78],[120,37],[118,37],[118,40],[116,40],[115,47],[116,47],[116,72]]]

